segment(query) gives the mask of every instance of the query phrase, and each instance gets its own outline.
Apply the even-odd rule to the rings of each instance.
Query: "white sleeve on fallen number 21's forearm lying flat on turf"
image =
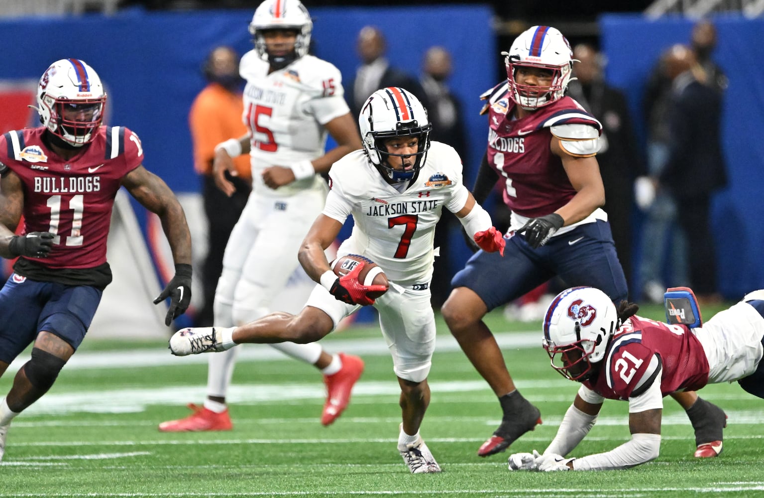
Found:
[[[573,470],[627,469],[655,460],[660,448],[661,435],[633,434],[629,441],[610,451],[576,458],[573,461]]]

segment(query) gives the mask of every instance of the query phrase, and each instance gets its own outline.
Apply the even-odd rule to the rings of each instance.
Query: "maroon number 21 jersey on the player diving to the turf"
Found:
[[[660,361],[650,367],[656,355]],[[651,379],[661,367],[661,378]],[[708,382],[706,353],[685,325],[633,316],[611,340],[600,373],[584,386],[604,398],[626,400],[642,394],[653,380],[661,383],[664,396],[680,389],[701,389]]]

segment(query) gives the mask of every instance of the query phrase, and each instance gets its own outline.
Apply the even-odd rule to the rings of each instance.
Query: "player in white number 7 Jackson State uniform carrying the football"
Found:
[[[303,268],[319,282],[303,311],[274,313],[239,327],[179,330],[170,339],[170,350],[185,356],[230,350],[238,343],[308,343],[329,334],[359,304],[373,304],[401,390],[398,451],[412,473],[439,472],[419,435],[429,405],[427,376],[435,350],[429,291],[435,223],[445,207],[485,251],[503,252],[504,240],[462,184],[456,151],[430,142],[432,125],[413,94],[398,87],[377,90],[364,104],[359,125],[364,150],[332,166],[326,205],[299,249]],[[326,259],[324,250],[348,216],[355,225],[338,256],[361,255],[384,270],[390,290],[376,300],[367,291],[379,290],[377,286],[361,285],[356,277],[363,263],[356,266],[358,271],[338,278]]]

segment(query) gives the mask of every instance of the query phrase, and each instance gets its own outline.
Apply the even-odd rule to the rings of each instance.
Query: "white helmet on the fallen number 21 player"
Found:
[[[574,287],[560,292],[544,315],[543,346],[552,368],[584,382],[594,373],[593,364],[604,359],[618,327],[616,307],[603,291]]]

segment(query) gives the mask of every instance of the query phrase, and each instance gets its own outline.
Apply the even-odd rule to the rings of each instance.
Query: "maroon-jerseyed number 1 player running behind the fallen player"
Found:
[[[600,288],[613,301],[628,291],[601,209],[605,194],[594,155],[602,125],[565,96],[573,66],[570,44],[557,29],[534,26],[503,54],[507,80],[482,96],[488,146],[474,196],[483,202],[497,180],[503,182],[503,200],[512,212],[507,253],[500,258],[478,251],[455,275],[442,308],[503,411],[501,425],[478,450],[481,457],[506,450],[541,422],[539,409],[517,391],[485,314],[555,276],[567,285]],[[720,408],[696,402],[694,392],[674,396],[690,408],[698,444],[721,437]]]

